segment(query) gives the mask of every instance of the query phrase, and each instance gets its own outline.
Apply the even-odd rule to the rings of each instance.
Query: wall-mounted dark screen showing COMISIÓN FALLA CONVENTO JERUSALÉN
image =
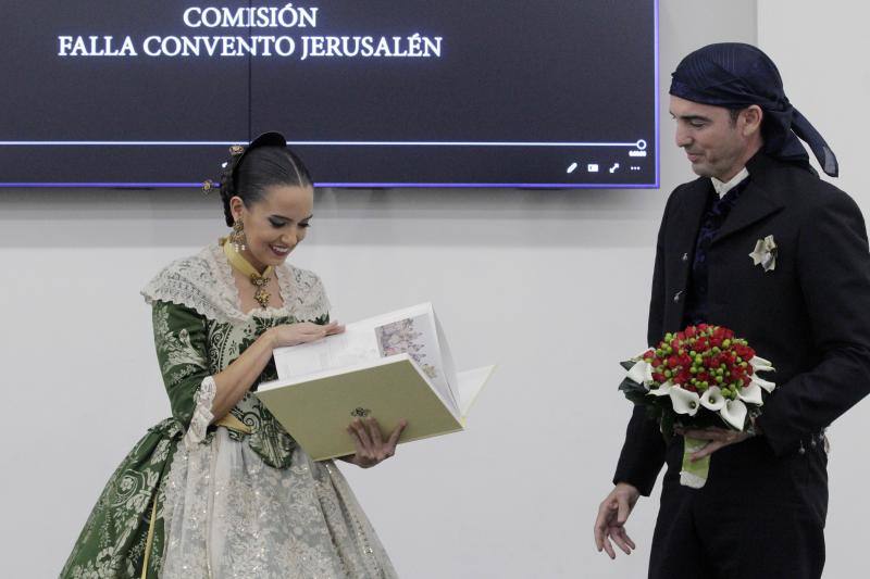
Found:
[[[656,0],[4,0],[0,185],[657,187]]]

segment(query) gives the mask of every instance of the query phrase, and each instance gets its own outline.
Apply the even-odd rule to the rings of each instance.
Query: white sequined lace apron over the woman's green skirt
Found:
[[[220,427],[178,444],[165,492],[167,579],[396,577],[345,477],[298,446],[277,469]]]

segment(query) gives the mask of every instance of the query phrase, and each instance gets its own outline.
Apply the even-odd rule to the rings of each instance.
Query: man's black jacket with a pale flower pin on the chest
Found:
[[[759,153],[749,184],[713,239],[708,259],[708,323],[733,329],[775,374],[758,425],[775,456],[829,426],[870,392],[870,253],[861,212],[813,173]],[[712,185],[678,187],[656,248],[647,340],[682,329],[695,241]],[[772,235],[775,269],[754,265],[756,241]],[[673,439],[681,443],[680,439]],[[739,444],[732,453],[739,452]],[[642,494],[664,463],[658,425],[636,407],[614,482]]]

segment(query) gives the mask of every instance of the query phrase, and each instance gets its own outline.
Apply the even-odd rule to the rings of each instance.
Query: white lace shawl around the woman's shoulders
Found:
[[[285,264],[275,268],[275,275],[284,305],[243,313],[232,266],[221,246],[215,243],[196,255],[172,262],[154,276],[141,294],[149,304],[172,302],[222,323],[245,323],[252,315],[289,315],[303,322],[328,313],[330,301],[314,273]]]

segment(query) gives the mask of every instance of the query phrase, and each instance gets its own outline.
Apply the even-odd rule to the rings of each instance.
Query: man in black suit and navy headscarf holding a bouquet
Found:
[[[824,139],[785,98],[773,62],[748,45],[705,47],[673,74],[676,144],[699,176],[664,209],[648,343],[701,322],[733,329],[773,362],[776,389],[754,435],[709,441],[701,489],[681,486],[683,438],[666,444],[635,407],[595,523],[598,551],[635,549],[624,524],[667,463],[650,579],[810,579],[824,566],[823,431],[870,390],[870,254],[861,213],[818,178],[837,174]],[[772,236],[772,237],[771,237]],[[749,256],[759,240],[766,259]],[[775,247],[774,247],[775,246]]]

